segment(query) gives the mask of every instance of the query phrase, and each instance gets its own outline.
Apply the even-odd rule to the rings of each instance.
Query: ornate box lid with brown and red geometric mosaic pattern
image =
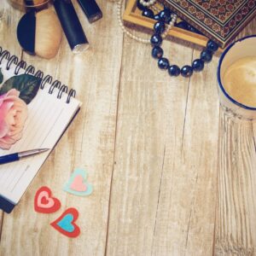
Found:
[[[160,0],[222,48],[256,15],[255,0]]]

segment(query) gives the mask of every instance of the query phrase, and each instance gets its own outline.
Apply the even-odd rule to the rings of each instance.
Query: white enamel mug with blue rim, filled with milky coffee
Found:
[[[226,113],[256,119],[256,36],[224,50],[218,63],[218,95]]]

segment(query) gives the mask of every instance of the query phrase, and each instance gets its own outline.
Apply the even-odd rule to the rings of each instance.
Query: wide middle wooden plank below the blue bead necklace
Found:
[[[178,65],[199,55],[186,45],[163,48]],[[215,71],[171,79],[149,52],[125,38],[107,254],[206,255],[216,198]]]

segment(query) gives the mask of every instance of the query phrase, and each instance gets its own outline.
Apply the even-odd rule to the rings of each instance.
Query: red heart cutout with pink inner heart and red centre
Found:
[[[52,213],[61,208],[61,201],[51,196],[51,190],[48,187],[38,189],[34,198],[34,209],[36,212]]]

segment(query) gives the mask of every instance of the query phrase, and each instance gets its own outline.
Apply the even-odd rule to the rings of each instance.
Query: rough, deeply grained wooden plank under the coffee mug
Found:
[[[256,33],[254,19],[239,37]],[[256,129],[220,114],[216,255],[256,255]]]

